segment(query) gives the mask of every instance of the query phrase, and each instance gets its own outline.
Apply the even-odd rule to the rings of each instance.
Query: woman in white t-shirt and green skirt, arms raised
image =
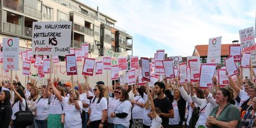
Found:
[[[54,95],[49,92],[49,88],[52,88]],[[53,82],[48,79],[48,83],[46,86],[46,95],[47,97],[49,97],[50,101],[47,127],[62,128],[63,124],[61,123],[61,114],[63,112],[64,105],[64,88],[62,86],[56,86],[55,88]]]

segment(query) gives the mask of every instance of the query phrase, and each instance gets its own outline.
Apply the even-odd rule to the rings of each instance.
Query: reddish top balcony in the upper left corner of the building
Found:
[[[14,11],[19,11],[20,13],[23,13],[23,4],[18,3],[16,1],[12,1],[12,0],[5,0],[3,1],[3,6],[14,10]]]

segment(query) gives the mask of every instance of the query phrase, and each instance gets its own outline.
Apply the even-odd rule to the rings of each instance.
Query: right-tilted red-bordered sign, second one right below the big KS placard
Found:
[[[85,58],[84,67],[82,68],[82,75],[93,76],[95,59]]]

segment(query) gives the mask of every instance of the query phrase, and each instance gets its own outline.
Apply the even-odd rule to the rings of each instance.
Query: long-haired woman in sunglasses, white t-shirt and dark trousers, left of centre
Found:
[[[104,88],[102,85],[96,85],[93,92],[95,96],[90,104],[88,124],[90,127],[102,128],[108,117],[108,101],[104,97]]]

